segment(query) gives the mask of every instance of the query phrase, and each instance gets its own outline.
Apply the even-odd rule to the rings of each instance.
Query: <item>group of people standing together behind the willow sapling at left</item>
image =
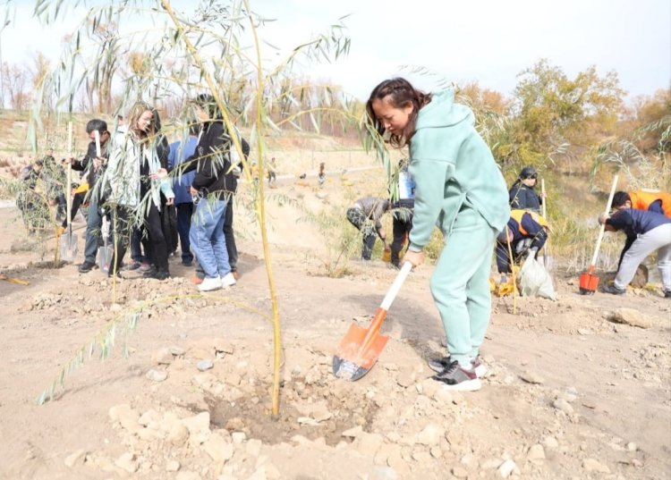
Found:
[[[235,284],[233,200],[242,163],[215,99],[202,94],[192,103],[197,120],[188,126],[187,139],[173,144],[161,131],[157,109],[145,102],[132,105],[114,133],[102,120],[87,123],[87,155],[67,161],[68,167],[85,172],[89,187],[73,202],[89,204],[81,273],[96,265],[106,217],[115,246],[110,276],[139,269],[145,277],[166,280],[168,258],[179,238],[182,264],[198,262],[194,282],[200,291]],[[248,156],[249,144],[237,131],[233,135]],[[72,217],[75,213],[72,208]],[[129,248],[132,261],[126,265]]]

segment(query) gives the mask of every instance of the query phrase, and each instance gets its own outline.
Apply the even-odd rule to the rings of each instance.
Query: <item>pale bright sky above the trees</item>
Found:
[[[350,55],[312,68],[310,75],[361,99],[379,81],[399,74],[420,88],[435,88],[434,81],[409,74],[402,65],[422,66],[459,83],[478,81],[506,95],[517,74],[541,58],[569,77],[592,64],[599,75],[615,70],[631,96],[651,95],[671,83],[669,0],[250,1],[253,10],[276,19],[263,34],[284,49],[350,14],[345,21]],[[173,3],[188,9],[195,0]],[[76,15],[47,29],[30,18],[34,1],[11,4],[16,16],[0,36],[3,61],[21,63],[38,50],[56,59],[59,39],[72,30]]]

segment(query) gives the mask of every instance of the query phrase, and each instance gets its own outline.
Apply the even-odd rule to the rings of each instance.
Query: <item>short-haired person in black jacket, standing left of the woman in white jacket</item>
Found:
[[[100,136],[100,156],[96,151],[96,131]],[[78,172],[86,172],[84,178],[89,183],[89,191],[85,194],[89,198],[89,215],[86,218],[86,245],[84,246],[84,261],[79,266],[81,274],[90,272],[96,266],[96,256],[98,255],[98,245],[100,243],[100,229],[103,225],[103,217],[100,214],[99,207],[101,206],[99,179],[102,178],[107,161],[107,142],[110,134],[107,131],[107,122],[94,118],[89,120],[86,124],[86,133],[89,136],[89,148],[86,155],[81,160],[74,158],[66,159],[65,161],[72,166],[72,170]],[[77,194],[72,199],[71,221],[81,203],[85,200],[82,198],[84,194]],[[63,228],[67,225],[67,219],[63,223]]]

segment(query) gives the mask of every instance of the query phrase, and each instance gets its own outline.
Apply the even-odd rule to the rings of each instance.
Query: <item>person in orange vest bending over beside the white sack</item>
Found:
[[[513,261],[522,257],[536,257],[548,240],[548,222],[541,215],[528,210],[511,210],[506,228],[497,236],[497,268],[501,282],[507,282],[512,270],[508,242],[513,251]]]

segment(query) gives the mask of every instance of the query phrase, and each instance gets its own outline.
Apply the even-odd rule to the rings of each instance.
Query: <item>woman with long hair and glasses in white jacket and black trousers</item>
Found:
[[[161,228],[161,193],[166,204],[174,201],[173,189],[165,178],[165,168],[157,157],[154,108],[144,102],[133,105],[128,115],[128,127],[115,132],[106,184],[110,194],[115,225],[115,259],[110,274],[121,269],[123,256],[129,245],[132,226],[143,225],[149,234],[155,270],[146,274],[165,280],[168,270],[166,238]],[[164,177],[162,180],[159,177]]]

